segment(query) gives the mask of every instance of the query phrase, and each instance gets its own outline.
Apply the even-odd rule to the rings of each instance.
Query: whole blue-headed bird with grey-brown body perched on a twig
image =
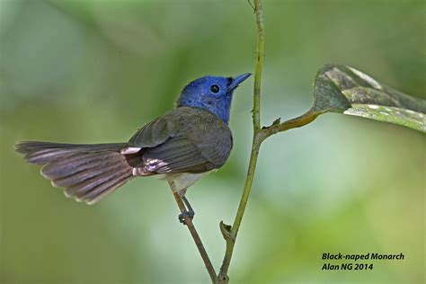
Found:
[[[146,123],[124,143],[64,144],[21,141],[15,150],[68,198],[92,205],[136,177],[157,175],[175,185],[186,210],[194,217],[187,189],[222,167],[233,138],[229,129],[236,87],[251,74],[236,77],[205,75],[187,84],[175,107]]]

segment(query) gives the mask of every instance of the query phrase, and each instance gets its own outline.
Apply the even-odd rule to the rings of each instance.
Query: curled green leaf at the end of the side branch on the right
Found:
[[[316,114],[339,112],[426,132],[426,101],[401,93],[352,67],[327,64],[315,77]]]

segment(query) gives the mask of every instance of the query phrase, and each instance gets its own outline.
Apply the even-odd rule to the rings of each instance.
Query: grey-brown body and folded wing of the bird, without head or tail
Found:
[[[147,173],[203,173],[225,164],[232,136],[216,115],[181,107],[146,124],[129,146],[143,148],[138,163],[129,164]]]

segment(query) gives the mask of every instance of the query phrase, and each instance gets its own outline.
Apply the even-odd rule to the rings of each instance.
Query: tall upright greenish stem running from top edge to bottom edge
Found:
[[[254,71],[254,87],[253,87],[253,143],[252,153],[250,155],[250,162],[248,167],[247,177],[245,179],[243,196],[241,197],[240,205],[236,212],[234,225],[227,226],[223,222],[220,223],[220,230],[226,241],[225,257],[220,267],[218,274],[219,283],[227,283],[229,278],[227,271],[231,263],[232,254],[234,252],[234,245],[236,235],[243,220],[244,210],[247,205],[247,200],[252,190],[254,172],[256,170],[257,157],[259,156],[259,149],[262,141],[266,138],[265,133],[261,129],[261,80],[262,80],[262,63],[264,57],[264,33],[263,33],[263,14],[261,0],[254,0],[254,13],[256,14],[257,23],[257,57],[256,67]]]

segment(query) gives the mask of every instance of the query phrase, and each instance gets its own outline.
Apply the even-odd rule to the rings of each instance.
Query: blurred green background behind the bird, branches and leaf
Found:
[[[293,118],[333,62],[425,98],[424,1],[263,2],[262,121]],[[1,283],[207,283],[165,182],[138,179],[89,207],[64,197],[17,140],[126,141],[200,75],[253,72],[247,1],[0,0]],[[194,185],[218,269],[250,152],[252,84],[235,93],[227,164]],[[232,283],[423,283],[426,138],[326,114],[264,143]],[[404,253],[373,271],[321,271],[322,253]],[[336,263],[336,262],[333,262]]]

